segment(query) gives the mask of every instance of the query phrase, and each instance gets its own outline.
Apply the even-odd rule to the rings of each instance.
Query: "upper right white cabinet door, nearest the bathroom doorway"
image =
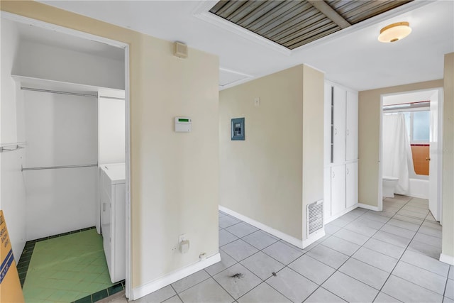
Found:
[[[347,91],[345,160],[358,159],[358,93]]]

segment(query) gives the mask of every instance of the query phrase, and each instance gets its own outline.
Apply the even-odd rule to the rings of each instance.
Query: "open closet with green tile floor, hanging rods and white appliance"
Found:
[[[1,32],[0,208],[23,294],[128,297],[128,45],[4,12]]]

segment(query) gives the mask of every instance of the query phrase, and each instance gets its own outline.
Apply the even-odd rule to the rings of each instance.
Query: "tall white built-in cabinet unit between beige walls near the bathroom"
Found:
[[[358,92],[325,82],[325,224],[358,207]]]

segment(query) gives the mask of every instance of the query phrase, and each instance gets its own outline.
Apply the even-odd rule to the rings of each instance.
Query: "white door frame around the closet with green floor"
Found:
[[[57,26],[52,23],[35,20],[14,13],[8,13],[1,11],[1,18],[6,18],[11,21],[18,23],[25,23],[38,28],[45,28],[50,31],[57,31],[67,35],[76,36],[83,39],[94,40],[100,43],[114,46],[116,48],[123,48],[125,52],[125,145],[126,145],[126,280],[125,290],[126,297],[132,293],[131,276],[132,276],[132,263],[131,263],[131,138],[130,138],[130,87],[129,87],[129,45],[117,40],[111,40],[98,35],[92,35],[90,33],[84,33],[82,31],[76,31],[71,28],[65,28],[63,26]]]

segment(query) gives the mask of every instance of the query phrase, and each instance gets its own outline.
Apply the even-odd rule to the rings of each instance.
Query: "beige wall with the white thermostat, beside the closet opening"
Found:
[[[218,253],[218,58],[33,1],[1,10],[130,45],[133,287]],[[190,45],[189,45],[190,46]],[[189,116],[192,133],[175,133]],[[187,233],[189,253],[177,246]]]

